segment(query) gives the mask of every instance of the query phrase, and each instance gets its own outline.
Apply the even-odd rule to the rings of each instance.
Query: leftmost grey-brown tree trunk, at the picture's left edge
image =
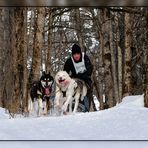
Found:
[[[13,11],[9,8],[4,9],[4,52],[3,52],[3,58],[4,58],[4,63],[3,63],[3,74],[4,74],[4,79],[2,83],[2,99],[3,99],[3,107],[8,108],[9,102],[11,100],[11,95],[12,95],[12,66],[11,66],[11,31],[12,31],[12,23],[11,23],[11,18],[12,18],[12,13]],[[8,59],[8,60],[5,60]],[[2,68],[2,67],[1,67]]]

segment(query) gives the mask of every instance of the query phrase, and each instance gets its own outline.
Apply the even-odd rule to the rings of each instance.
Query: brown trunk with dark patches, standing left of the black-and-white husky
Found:
[[[24,15],[23,8],[14,9],[14,35],[15,39],[11,42],[12,46],[12,72],[13,72],[13,87],[12,87],[12,104],[10,113],[20,113],[22,107],[22,85],[23,85],[23,42],[24,42]]]

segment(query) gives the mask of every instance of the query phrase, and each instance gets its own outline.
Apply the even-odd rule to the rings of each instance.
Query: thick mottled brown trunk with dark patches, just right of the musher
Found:
[[[112,64],[111,64],[111,49],[109,42],[109,32],[110,32],[110,21],[109,12],[106,9],[102,10],[103,16],[103,26],[102,26],[102,36],[103,36],[103,61],[104,61],[104,85],[105,85],[105,105],[109,107],[114,106],[114,85],[112,77]]]

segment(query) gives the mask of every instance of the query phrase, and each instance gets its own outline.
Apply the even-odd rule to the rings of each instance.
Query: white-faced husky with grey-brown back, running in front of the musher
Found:
[[[83,100],[87,87],[82,80],[72,79],[66,71],[59,71],[55,76],[55,108],[59,113],[77,112],[79,100]],[[75,100],[74,108],[72,108]],[[68,110],[69,105],[69,110]]]

